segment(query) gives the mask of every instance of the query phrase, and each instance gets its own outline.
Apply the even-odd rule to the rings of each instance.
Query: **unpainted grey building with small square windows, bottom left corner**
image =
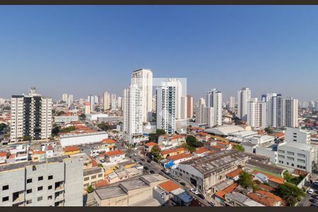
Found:
[[[0,184],[0,206],[83,206],[79,158],[0,165]]]

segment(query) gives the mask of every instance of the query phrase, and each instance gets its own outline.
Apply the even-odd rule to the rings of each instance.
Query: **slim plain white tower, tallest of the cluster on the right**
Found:
[[[241,120],[247,120],[247,102],[251,99],[251,90],[242,88],[237,91],[237,117]]]

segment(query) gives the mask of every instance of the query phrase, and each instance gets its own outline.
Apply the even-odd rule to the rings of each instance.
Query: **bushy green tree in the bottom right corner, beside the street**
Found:
[[[289,182],[280,184],[276,192],[281,198],[285,199],[289,206],[295,206],[302,199],[302,196],[305,196],[305,192],[302,189]]]

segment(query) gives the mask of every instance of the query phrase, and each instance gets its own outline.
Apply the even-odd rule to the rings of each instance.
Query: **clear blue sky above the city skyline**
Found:
[[[141,67],[186,77],[196,100],[317,100],[318,6],[0,6],[0,97],[121,95]]]

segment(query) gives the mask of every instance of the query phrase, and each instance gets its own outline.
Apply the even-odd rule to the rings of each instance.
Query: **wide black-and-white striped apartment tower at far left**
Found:
[[[52,98],[30,89],[29,95],[11,97],[11,142],[49,139],[52,134]]]

